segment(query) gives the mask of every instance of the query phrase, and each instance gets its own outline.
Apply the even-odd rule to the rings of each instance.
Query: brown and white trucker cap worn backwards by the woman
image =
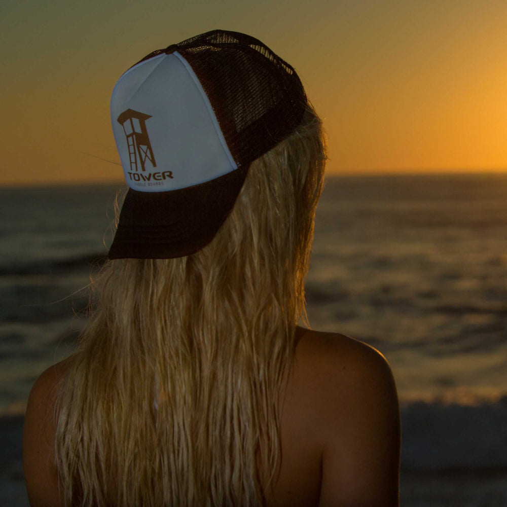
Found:
[[[129,187],[110,259],[169,259],[208,244],[248,167],[300,125],[294,68],[258,39],[212,30],[130,67],[111,97]]]

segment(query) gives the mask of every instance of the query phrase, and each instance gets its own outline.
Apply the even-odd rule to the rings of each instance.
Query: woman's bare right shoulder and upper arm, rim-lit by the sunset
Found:
[[[399,504],[400,409],[386,358],[338,333],[303,330],[322,445],[319,505]]]

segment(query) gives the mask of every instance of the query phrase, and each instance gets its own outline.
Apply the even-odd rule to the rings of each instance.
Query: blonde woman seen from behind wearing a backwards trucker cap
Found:
[[[325,164],[288,63],[213,30],[118,81],[128,193],[75,354],[30,393],[37,505],[397,505],[383,356],[305,321]]]

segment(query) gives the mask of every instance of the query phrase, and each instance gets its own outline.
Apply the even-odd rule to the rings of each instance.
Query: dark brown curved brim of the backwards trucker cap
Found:
[[[172,259],[206,246],[234,207],[248,167],[200,185],[125,196],[110,259]]]

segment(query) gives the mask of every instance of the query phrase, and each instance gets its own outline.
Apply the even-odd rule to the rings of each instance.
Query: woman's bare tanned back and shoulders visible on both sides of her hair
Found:
[[[400,416],[385,359],[340,334],[298,328],[296,339],[280,395],[282,459],[268,507],[398,505]],[[55,425],[46,415],[64,373],[65,361],[46,370],[28,401],[23,465],[32,507],[58,505]]]

